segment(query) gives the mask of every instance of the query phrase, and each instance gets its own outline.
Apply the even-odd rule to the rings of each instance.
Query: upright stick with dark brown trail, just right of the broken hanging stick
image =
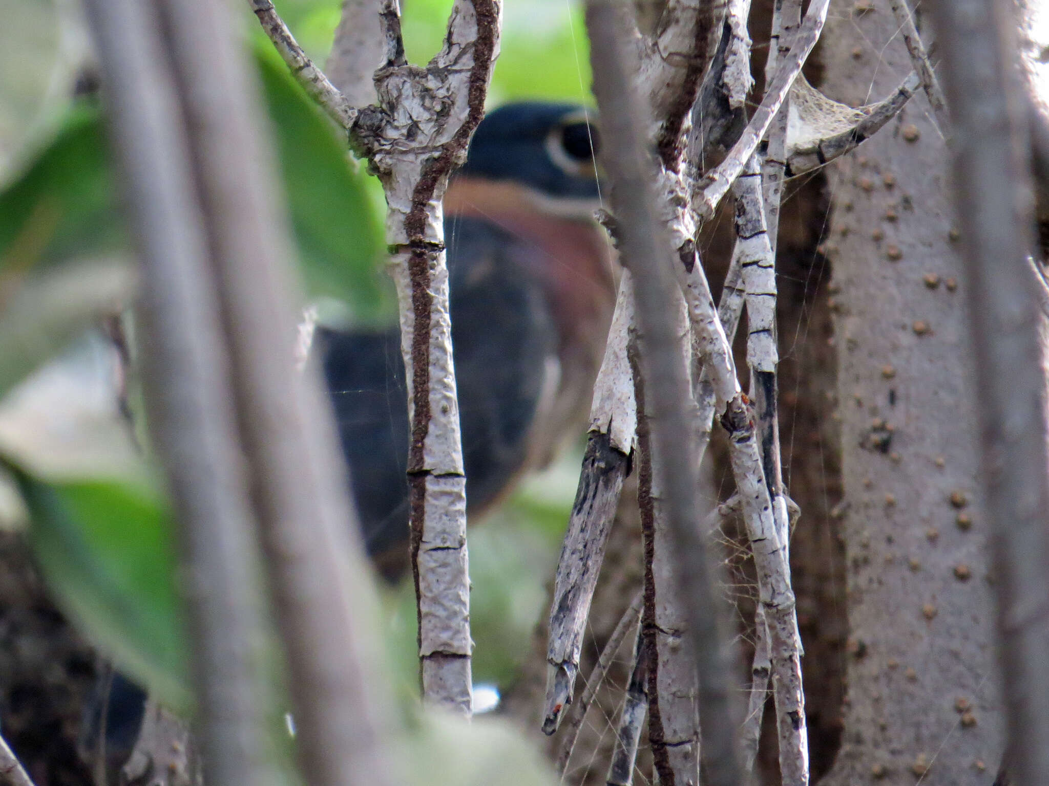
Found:
[[[689,363],[687,314],[680,291],[671,289],[669,308],[677,313],[676,330],[682,376]],[[642,339],[643,340],[643,339]],[[697,712],[695,662],[682,647],[687,635],[687,601],[676,590],[673,543],[666,526],[660,478],[652,473],[651,403],[646,407],[637,340],[630,343],[638,400],[638,508],[644,538],[644,596],[641,616],[648,681],[648,741],[659,783],[686,786],[699,782],[700,718]],[[691,396],[686,407],[694,410]],[[692,428],[699,418],[689,413]],[[697,462],[699,463],[699,462]]]

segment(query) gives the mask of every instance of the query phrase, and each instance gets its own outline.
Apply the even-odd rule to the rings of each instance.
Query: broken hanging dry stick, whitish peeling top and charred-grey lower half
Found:
[[[557,730],[561,713],[573,700],[591,602],[634,450],[638,415],[626,351],[633,322],[634,286],[630,274],[624,271],[594,384],[586,452],[554,577],[542,722],[548,735]]]

